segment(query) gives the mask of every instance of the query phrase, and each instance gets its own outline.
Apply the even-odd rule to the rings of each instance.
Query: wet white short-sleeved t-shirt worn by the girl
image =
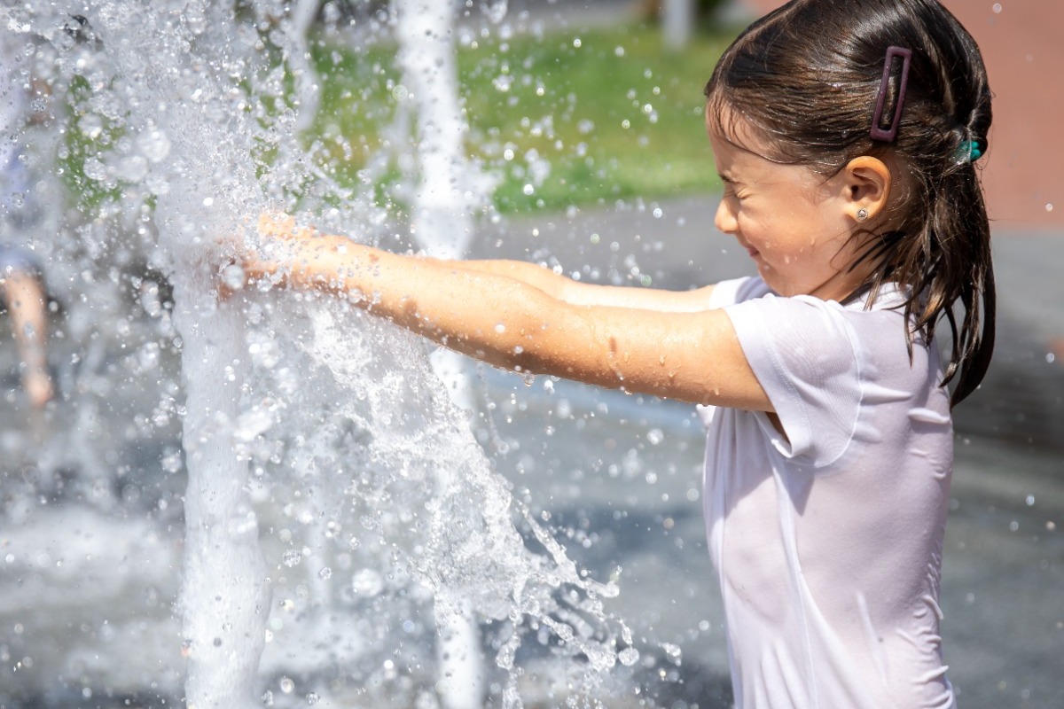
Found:
[[[938,353],[896,288],[870,310],[719,284],[786,436],[700,407],[704,511],[736,707],[953,707],[938,584],[953,435]],[[712,366],[712,362],[710,364]]]

